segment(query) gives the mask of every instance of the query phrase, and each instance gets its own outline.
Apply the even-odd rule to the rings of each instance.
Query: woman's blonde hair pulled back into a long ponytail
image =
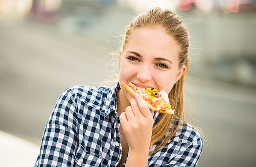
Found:
[[[187,66],[187,71],[176,82],[176,84],[174,84],[171,92],[169,92],[169,101],[171,103],[171,107],[175,110],[174,115],[160,113],[160,117],[153,127],[150,146],[161,141],[161,143],[150,152],[150,154],[153,154],[169,142],[169,140],[178,131],[180,120],[184,120],[186,116],[183,96],[184,80],[185,77],[187,77],[189,68],[189,33],[186,26],[174,11],[168,9],[162,10],[157,7],[150,9],[150,11],[146,13],[141,13],[131,21],[129,26],[126,27],[126,33],[122,45],[123,50],[132,36],[132,33],[141,28],[163,28],[163,30],[174,38],[180,46],[178,58],[179,68],[181,68],[182,65]],[[178,124],[175,122],[174,116],[180,118]]]

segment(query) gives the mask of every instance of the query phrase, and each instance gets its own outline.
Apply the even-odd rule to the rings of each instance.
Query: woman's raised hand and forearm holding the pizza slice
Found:
[[[120,122],[129,146],[128,159],[148,165],[148,152],[152,135],[153,114],[139,93],[130,99],[130,106],[120,115]],[[130,158],[129,158],[130,156]],[[128,164],[128,159],[127,163]],[[138,163],[137,163],[138,165]]]

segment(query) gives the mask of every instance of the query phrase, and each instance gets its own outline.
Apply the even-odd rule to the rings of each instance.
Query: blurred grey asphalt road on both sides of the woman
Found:
[[[103,80],[106,45],[47,24],[0,20],[0,130],[40,145],[60,94]],[[197,166],[254,166],[256,89],[200,76],[192,80],[195,124],[205,133]]]

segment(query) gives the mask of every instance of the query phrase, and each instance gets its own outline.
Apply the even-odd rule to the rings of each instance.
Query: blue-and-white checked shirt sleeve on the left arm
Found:
[[[77,107],[73,88],[61,94],[43,133],[35,167],[73,167],[77,148]]]

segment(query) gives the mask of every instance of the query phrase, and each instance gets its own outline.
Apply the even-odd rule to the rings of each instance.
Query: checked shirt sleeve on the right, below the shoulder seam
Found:
[[[203,141],[199,137],[190,145],[183,146],[182,150],[166,164],[166,167],[195,167],[202,153]]]

